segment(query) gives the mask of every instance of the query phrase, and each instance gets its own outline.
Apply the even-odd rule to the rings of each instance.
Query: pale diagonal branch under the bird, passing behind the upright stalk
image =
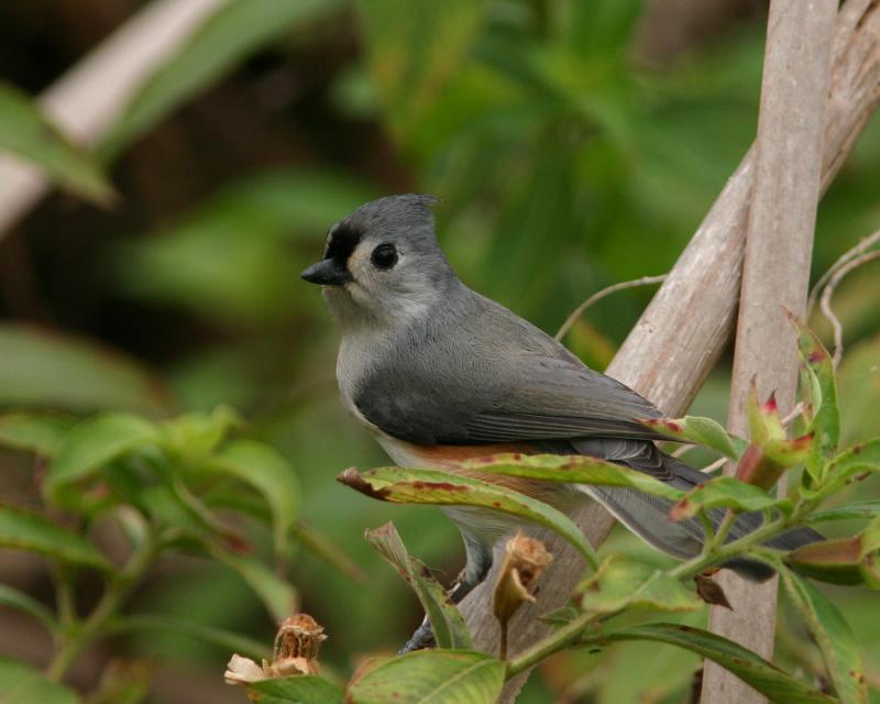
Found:
[[[837,19],[834,57],[826,108],[823,190],[880,101],[880,4],[873,0],[848,0],[844,4]],[[650,398],[667,414],[679,415],[686,409],[733,329],[754,160],[751,150],[608,367],[612,376]],[[595,546],[605,540],[614,522],[595,505],[583,507],[574,519]],[[537,530],[535,535],[557,559],[540,580],[537,603],[524,607],[509,624],[508,647],[514,654],[549,630],[538,617],[563,605],[583,575],[583,562],[563,540]],[[462,603],[474,642],[487,652],[498,647],[491,604],[494,579],[493,572]],[[525,676],[509,683],[503,701],[513,700]]]

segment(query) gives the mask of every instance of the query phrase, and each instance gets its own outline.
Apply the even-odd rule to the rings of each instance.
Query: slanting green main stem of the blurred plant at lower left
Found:
[[[62,637],[62,646],[55,653],[46,676],[55,682],[59,681],[70,669],[80,652],[89,646],[96,638],[100,637],[103,627],[107,625],[123,600],[129,595],[132,587],[143,575],[144,571],[155,558],[158,543],[155,537],[151,536],[125,563],[119,574],[112,575],[107,583],[100,601],[81,624],[76,622],[68,624],[68,628]]]

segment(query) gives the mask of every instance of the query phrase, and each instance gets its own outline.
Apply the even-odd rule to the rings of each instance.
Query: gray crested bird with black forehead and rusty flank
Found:
[[[301,273],[322,287],[341,336],[337,381],[342,404],[399,466],[466,472],[462,463],[520,452],[592,455],[688,491],[706,474],[662,452],[668,440],[641,421],[661,411],[625,384],[588,369],[561,342],[469,288],[436,235],[427,195],[367,202],[328,231],[323,257]],[[482,475],[481,479],[487,479]],[[495,476],[563,510],[598,501],[629,530],[679,559],[700,553],[696,519],[672,521],[672,502],[634,488],[556,484]],[[493,547],[516,525],[488,508],[443,508],[462,535],[465,565],[453,602],[482,582]],[[712,512],[716,524],[723,512]],[[762,522],[740,514],[729,539]],[[794,528],[767,542],[792,550],[821,540]],[[729,568],[754,581],[773,571],[747,559]],[[404,652],[431,645],[426,622]]]

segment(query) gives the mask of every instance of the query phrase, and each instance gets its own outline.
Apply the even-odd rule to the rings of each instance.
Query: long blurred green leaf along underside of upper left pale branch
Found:
[[[339,0],[231,0],[213,12],[139,88],[100,145],[116,154],[248,56],[334,12]]]

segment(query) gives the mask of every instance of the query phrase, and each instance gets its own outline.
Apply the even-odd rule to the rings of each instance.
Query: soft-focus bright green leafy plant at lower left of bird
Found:
[[[245,652],[262,650],[221,628],[186,622],[175,626],[153,615],[120,616],[124,596],[164,552],[210,556],[238,574],[277,622],[297,610],[298,595],[285,574],[299,510],[296,477],[271,448],[253,440],[230,440],[238,425],[238,417],[227,408],[165,421],[103,414],[76,425],[25,413],[0,416],[4,429],[0,440],[50,457],[42,482],[48,506],[63,506],[76,516],[66,527],[41,513],[0,507],[0,546],[38,553],[58,565],[97,569],[105,575],[103,597],[81,624],[70,609],[59,612],[56,619],[28,595],[7,586],[0,591],[0,604],[28,613],[61,634],[51,669],[54,676],[64,673],[82,647],[111,632],[162,627]],[[250,494],[262,508],[245,512],[244,517],[254,527],[265,524],[271,529],[275,569],[266,565],[252,539],[241,532],[241,517],[232,521],[229,512],[218,513],[204,502],[213,486],[239,496]],[[91,542],[89,526],[98,520],[109,520],[128,537],[129,557],[121,568],[111,565]],[[77,573],[62,574],[58,588],[73,588]],[[58,619],[61,625],[56,625]]]

